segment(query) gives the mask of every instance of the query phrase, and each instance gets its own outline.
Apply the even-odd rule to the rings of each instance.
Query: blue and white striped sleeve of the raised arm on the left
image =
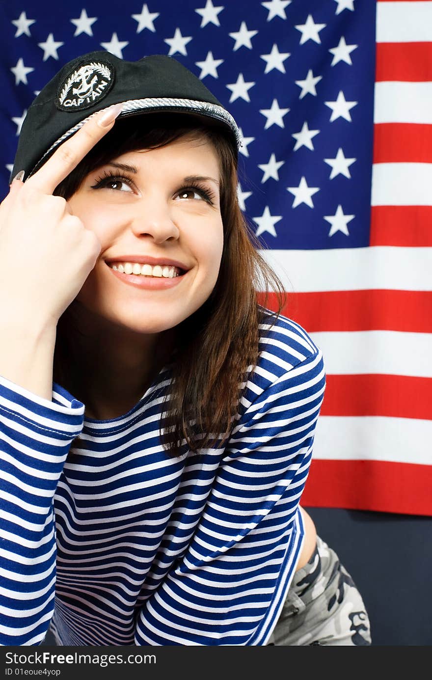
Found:
[[[84,404],[0,377],[0,645],[40,645],[54,613],[53,498]]]

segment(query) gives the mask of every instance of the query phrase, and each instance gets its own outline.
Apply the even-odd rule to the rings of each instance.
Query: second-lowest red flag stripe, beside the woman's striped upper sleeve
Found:
[[[327,375],[320,415],[432,420],[432,378],[377,373]]]

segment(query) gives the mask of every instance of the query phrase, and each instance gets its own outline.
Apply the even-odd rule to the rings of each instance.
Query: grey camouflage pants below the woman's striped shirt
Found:
[[[370,645],[369,617],[334,550],[320,537],[296,571],[268,645]]]

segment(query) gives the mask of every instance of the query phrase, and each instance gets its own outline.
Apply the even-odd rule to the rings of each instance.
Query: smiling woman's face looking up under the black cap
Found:
[[[68,201],[102,246],[77,296],[86,310],[137,333],[160,333],[199,309],[216,284],[222,258],[219,182],[214,147],[192,135],[128,152],[90,172]],[[147,278],[107,264],[133,264],[133,256],[161,262],[162,269],[175,260],[187,271]]]

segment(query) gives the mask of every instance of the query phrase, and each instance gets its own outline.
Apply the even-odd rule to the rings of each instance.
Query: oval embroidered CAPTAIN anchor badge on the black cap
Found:
[[[61,111],[88,109],[105,97],[114,84],[114,67],[107,61],[78,64],[57,90],[56,107]]]

